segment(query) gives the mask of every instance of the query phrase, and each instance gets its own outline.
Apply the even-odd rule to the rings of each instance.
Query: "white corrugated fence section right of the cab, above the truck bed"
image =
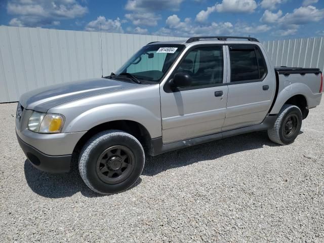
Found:
[[[268,41],[263,45],[274,66],[324,69],[324,37]]]

